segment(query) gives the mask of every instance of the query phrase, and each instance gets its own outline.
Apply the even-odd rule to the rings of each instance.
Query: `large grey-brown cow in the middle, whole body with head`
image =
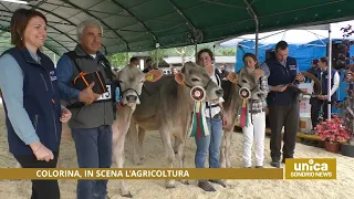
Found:
[[[140,145],[137,145],[138,134],[144,135],[145,132],[158,130],[167,158],[166,167],[174,167],[175,151],[171,145],[171,136],[174,136],[179,167],[184,168],[185,144],[195,104],[190,97],[190,88],[202,86],[206,90],[207,102],[219,101],[223,91],[211,81],[204,67],[192,62],[187,62],[180,73],[165,75],[156,83],[145,83],[144,86],[145,90],[140,95],[142,104],[133,113],[128,133],[134,147],[134,161],[138,164],[143,157],[144,136],[139,137]],[[123,150],[121,155],[123,156]],[[167,180],[166,187],[174,188],[175,180]]]

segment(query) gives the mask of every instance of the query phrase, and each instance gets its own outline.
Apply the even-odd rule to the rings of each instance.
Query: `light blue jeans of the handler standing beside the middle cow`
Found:
[[[196,168],[205,168],[206,158],[209,153],[209,168],[220,168],[220,145],[222,140],[222,119],[207,117],[207,124],[210,132],[209,136],[196,136],[197,151],[195,157]],[[211,125],[212,124],[212,125]],[[212,129],[211,129],[212,126]]]

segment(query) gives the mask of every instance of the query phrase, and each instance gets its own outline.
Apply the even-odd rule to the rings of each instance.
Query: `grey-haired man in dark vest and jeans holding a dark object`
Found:
[[[75,143],[79,167],[111,168],[114,85],[111,64],[100,52],[103,28],[100,21],[87,19],[77,25],[76,33],[79,44],[63,54],[56,66],[61,98],[73,113],[69,127]],[[108,96],[94,93],[94,82],[84,90],[77,90],[73,82],[80,71],[101,72],[102,81],[111,85]],[[106,179],[79,180],[77,199],[105,199],[107,182]]]

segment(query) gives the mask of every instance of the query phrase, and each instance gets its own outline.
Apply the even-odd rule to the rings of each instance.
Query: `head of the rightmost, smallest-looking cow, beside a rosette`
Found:
[[[228,80],[237,84],[237,88],[247,87],[251,91],[251,98],[259,100],[262,98],[266,94],[260,88],[259,76],[263,74],[262,70],[251,71],[248,67],[242,67],[238,74],[230,73]]]

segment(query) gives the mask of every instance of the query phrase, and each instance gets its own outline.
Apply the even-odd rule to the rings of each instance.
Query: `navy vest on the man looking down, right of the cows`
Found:
[[[287,65],[283,66],[278,60],[269,59],[266,61],[270,75],[268,84],[271,86],[294,83],[298,74],[298,63],[293,57],[288,56]],[[283,92],[270,92],[267,96],[268,105],[290,106],[296,102],[296,92],[294,88],[287,88]]]

